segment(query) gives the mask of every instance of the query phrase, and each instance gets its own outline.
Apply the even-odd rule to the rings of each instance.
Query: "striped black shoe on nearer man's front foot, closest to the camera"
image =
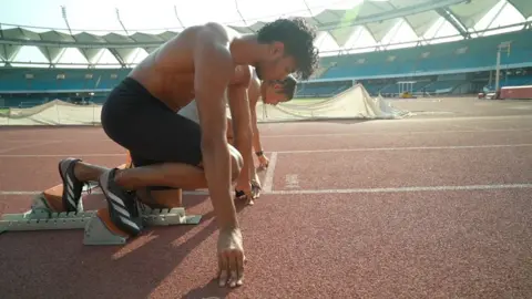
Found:
[[[100,177],[100,187],[108,199],[111,220],[124,233],[136,236],[142,230],[140,206],[134,194],[122,189],[114,183],[116,168],[105,172]]]

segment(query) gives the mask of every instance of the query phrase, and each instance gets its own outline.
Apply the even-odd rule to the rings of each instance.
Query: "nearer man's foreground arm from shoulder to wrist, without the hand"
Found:
[[[216,24],[197,33],[194,51],[194,90],[202,127],[203,166],[221,229],[238,227],[231,190],[227,145],[226,89],[234,72],[228,37]]]

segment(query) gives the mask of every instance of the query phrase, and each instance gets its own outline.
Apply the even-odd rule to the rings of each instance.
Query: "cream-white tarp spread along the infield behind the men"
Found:
[[[54,100],[34,107],[11,109],[7,114],[0,114],[0,125],[98,125],[101,110],[101,105],[75,105]],[[228,109],[227,114],[231,114]],[[323,101],[298,103],[295,100],[277,106],[257,103],[258,122],[401,118],[409,115],[393,109],[382,97],[371,97],[360,84]]]

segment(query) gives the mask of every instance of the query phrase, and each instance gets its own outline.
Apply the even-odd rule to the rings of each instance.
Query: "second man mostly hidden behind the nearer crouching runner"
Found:
[[[260,167],[267,167],[268,166],[268,158],[264,155],[264,150],[263,145],[260,143],[260,135],[258,132],[258,126],[257,126],[257,113],[256,113],[256,106],[259,101],[259,99],[263,101],[265,104],[269,105],[277,105],[278,103],[283,102],[288,102],[294,97],[294,93],[296,90],[296,84],[297,80],[288,75],[285,80],[283,81],[264,81],[260,83],[260,80],[258,79],[257,74],[254,72],[253,78],[249,83],[249,89],[248,89],[248,99],[249,99],[249,112],[250,112],[250,120],[252,120],[252,130],[253,130],[253,137],[252,137],[252,150],[255,151],[255,155],[257,156],[258,163]],[[197,113],[197,105],[196,101],[192,101],[188,103],[188,105],[184,106],[182,110],[178,112],[180,115],[187,117],[191,121],[194,121],[196,123],[200,123],[200,116]],[[233,122],[231,115],[227,115],[227,141],[229,144],[233,144]],[[242,148],[236,147],[238,151],[243,151]],[[245,194],[243,190],[243,187],[249,182],[246,182],[245,175],[241,176],[241,179],[238,179],[238,183],[236,185],[236,197],[238,198],[246,198],[248,203],[253,204],[253,199],[258,197],[258,190],[260,189],[260,182],[258,179],[255,165],[253,164],[253,159],[250,161],[252,163],[249,165],[245,164],[244,169],[249,171],[249,177],[252,179],[252,188],[253,194]]]

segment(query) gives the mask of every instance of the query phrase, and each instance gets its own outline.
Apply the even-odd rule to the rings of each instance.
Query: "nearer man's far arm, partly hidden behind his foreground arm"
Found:
[[[233,116],[234,143],[244,159],[244,166],[242,168],[241,176],[238,177],[238,185],[241,188],[244,184],[247,188],[250,188],[249,182],[252,178],[249,167],[253,165],[253,131],[250,124],[252,120],[249,116],[248,97],[250,75],[249,68],[243,68],[243,76],[238,83],[231,85],[228,90],[229,110],[231,115]]]

